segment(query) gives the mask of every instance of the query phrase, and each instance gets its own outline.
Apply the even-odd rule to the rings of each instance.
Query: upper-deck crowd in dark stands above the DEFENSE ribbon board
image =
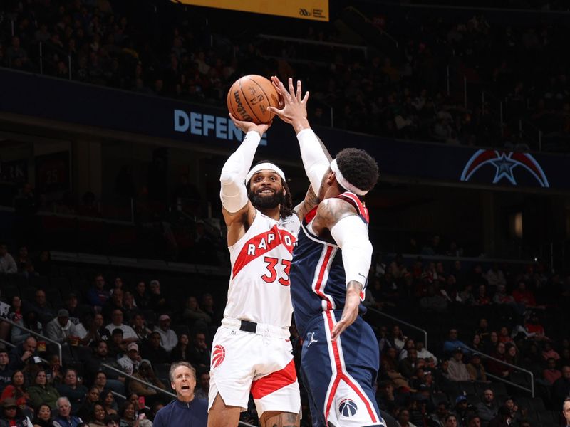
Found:
[[[28,71],[41,63],[47,75],[218,106],[240,75],[294,75],[313,95],[311,122],[331,125],[332,108],[335,127],[385,137],[524,149],[537,148],[537,138],[521,138],[521,118],[543,135],[570,132],[570,65],[559,55],[568,26],[554,19],[504,25],[484,14],[450,22],[437,9],[371,11],[363,26],[388,31],[394,46],[363,39],[363,56],[257,37],[347,43],[332,24],[275,25],[252,15],[244,26],[257,32],[236,33],[219,11],[206,19],[204,9],[166,3],[147,1],[134,14],[111,0],[3,2],[0,63]],[[484,105],[481,90],[492,94]],[[504,104],[502,127],[495,100]]]

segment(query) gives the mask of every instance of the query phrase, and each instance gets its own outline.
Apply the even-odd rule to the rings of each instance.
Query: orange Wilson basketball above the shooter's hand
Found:
[[[279,97],[271,82],[261,75],[244,75],[227,93],[227,109],[237,120],[269,123],[274,114],[267,107],[277,107]]]

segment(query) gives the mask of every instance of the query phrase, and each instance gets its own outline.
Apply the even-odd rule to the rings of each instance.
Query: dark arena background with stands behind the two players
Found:
[[[207,396],[230,271],[219,172],[243,137],[226,95],[259,74],[301,80],[331,154],[361,147],[380,167],[364,318],[388,425],[448,426],[450,412],[465,427],[507,412],[511,426],[566,425],[568,3],[269,3],[0,2],[2,401],[32,419],[43,366],[83,421],[92,386],[106,411],[126,399],[152,421],[181,359]],[[296,201],[309,182],[298,146],[276,120],[257,152]],[[63,309],[81,336],[60,343]],[[118,311],[154,374],[118,363],[126,334],[105,329]],[[294,327],[291,342],[299,362]],[[311,426],[303,384],[301,400]],[[242,421],[258,425],[252,400]]]

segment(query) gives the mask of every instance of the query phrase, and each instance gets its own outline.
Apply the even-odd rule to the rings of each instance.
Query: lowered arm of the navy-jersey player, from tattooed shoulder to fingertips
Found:
[[[358,306],[363,300],[363,289],[372,260],[372,243],[368,226],[347,201],[326,199],[318,205],[313,231],[318,236],[330,233],[342,250],[346,276],[346,300],[341,320],[336,322],[331,338],[336,339],[358,317]]]

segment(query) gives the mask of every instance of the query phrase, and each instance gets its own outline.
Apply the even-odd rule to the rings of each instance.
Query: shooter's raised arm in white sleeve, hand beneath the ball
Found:
[[[242,122],[231,114],[229,117],[246,134],[242,144],[229,156],[219,174],[219,199],[222,201],[222,214],[227,226],[227,244],[232,246],[244,235],[245,228],[251,225],[255,217],[255,209],[247,198],[245,177],[252,167],[261,136],[269,125]]]

